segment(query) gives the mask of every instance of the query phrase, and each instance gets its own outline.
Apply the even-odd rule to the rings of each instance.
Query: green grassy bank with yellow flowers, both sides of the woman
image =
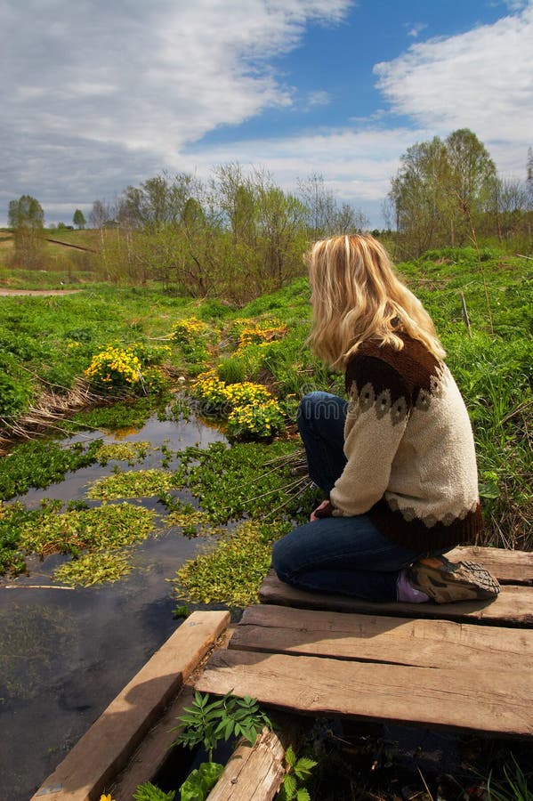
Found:
[[[472,417],[487,523],[483,544],[529,549],[530,263],[497,251],[446,249],[400,264],[400,271],[436,322]],[[305,346],[309,295],[307,279],[297,279],[242,309],[214,300],[193,303],[166,295],[159,287],[93,286],[62,297],[1,298],[4,433],[10,420],[28,416],[29,406],[39,398],[46,400],[51,393],[56,400],[69,396],[80,376],[96,396],[107,396],[108,401],[118,391],[132,399],[148,393],[141,401],[145,410],[150,397],[156,399],[159,393],[164,399],[177,376],[187,376],[187,396],[174,396],[166,414],[187,414],[192,404],[198,414],[225,426],[240,444],[231,449],[213,446],[201,455],[194,449],[179,454],[182,466],[172,486],[189,487],[202,498],[205,517],[198,525],[233,526],[244,519],[247,523],[235,531],[238,546],[221,546],[182,570],[179,594],[203,603],[248,603],[268,566],[271,539],[295,520],[305,519],[315,497],[309,482],[291,473],[300,449],[294,429],[298,400],[312,389],[343,392],[343,376],[320,365]],[[117,352],[122,361],[111,378],[109,365]],[[128,376],[134,384],[127,383]],[[160,401],[160,407],[165,402]],[[85,417],[90,425],[105,420],[109,428],[121,427],[132,409],[141,409],[139,401],[134,407],[126,402],[96,409],[79,417],[78,423],[82,425]],[[28,447],[33,449],[32,470],[22,481],[16,470]],[[46,451],[50,461],[56,448],[61,452],[61,445],[43,447],[38,442],[13,447],[12,456],[1,465],[2,498],[25,491],[20,488],[32,482],[46,486],[47,476],[48,483],[56,481],[64,453],[50,465],[39,455]],[[162,454],[163,470],[166,457]],[[173,508],[165,481],[150,493],[167,498],[169,514],[183,514]],[[197,524],[185,517],[182,528],[190,534]],[[238,558],[248,560],[248,573],[236,570]]]

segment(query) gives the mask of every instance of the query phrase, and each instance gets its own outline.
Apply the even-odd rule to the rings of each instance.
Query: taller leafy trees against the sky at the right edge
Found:
[[[385,215],[405,256],[461,247],[478,236],[531,247],[533,151],[527,178],[503,178],[468,128],[408,148],[392,179]]]

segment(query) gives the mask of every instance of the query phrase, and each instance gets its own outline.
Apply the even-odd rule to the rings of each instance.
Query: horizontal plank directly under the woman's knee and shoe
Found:
[[[494,601],[461,601],[460,603],[377,603],[349,595],[311,593],[279,581],[270,570],[259,589],[262,603],[297,606],[302,609],[323,609],[392,615],[403,618],[445,619],[466,623],[489,623],[496,626],[533,627],[533,587],[505,586]]]

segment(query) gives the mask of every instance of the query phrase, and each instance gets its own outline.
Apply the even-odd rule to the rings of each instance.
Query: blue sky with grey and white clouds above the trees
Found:
[[[533,147],[533,0],[0,0],[0,53],[0,225],[238,162],[379,228],[416,142],[470,128],[519,179]]]

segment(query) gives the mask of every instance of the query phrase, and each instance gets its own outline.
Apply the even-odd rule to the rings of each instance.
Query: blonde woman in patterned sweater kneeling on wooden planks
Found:
[[[279,578],[372,601],[497,595],[487,570],[441,555],[482,523],[472,428],[431,318],[371,236],[319,241],[308,263],[311,348],[344,371],[349,400],[311,392],[300,404],[327,499],[274,544]]]

